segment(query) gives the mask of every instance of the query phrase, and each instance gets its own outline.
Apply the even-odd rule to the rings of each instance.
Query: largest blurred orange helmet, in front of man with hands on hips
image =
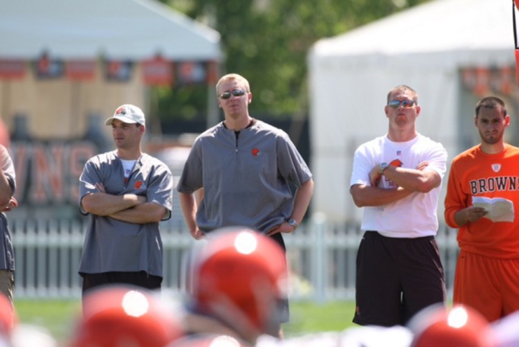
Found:
[[[219,229],[194,249],[191,261],[190,290],[197,310],[217,317],[247,341],[279,322],[286,260],[271,238],[251,229]]]

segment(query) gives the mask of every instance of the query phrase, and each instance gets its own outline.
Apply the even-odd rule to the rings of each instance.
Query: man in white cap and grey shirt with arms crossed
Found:
[[[140,108],[122,105],[105,125],[112,128],[116,150],[89,159],[80,177],[80,211],[89,215],[79,269],[83,294],[110,283],[159,289],[158,222],[171,216],[172,174],[141,149],[146,126]]]

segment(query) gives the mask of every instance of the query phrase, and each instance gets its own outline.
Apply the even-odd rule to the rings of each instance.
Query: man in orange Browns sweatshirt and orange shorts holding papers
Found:
[[[519,310],[519,206],[513,222],[493,222],[472,199],[519,204],[519,148],[504,142],[510,116],[500,98],[480,100],[474,123],[481,143],[453,159],[445,198],[445,220],[459,228],[453,301],[496,321]]]

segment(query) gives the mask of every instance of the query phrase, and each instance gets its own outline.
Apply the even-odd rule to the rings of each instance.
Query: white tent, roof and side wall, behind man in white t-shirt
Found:
[[[361,209],[349,195],[353,153],[387,132],[385,98],[398,84],[417,90],[419,132],[444,143],[453,159],[459,134],[473,131],[475,103],[464,100],[460,69],[515,66],[512,6],[510,0],[430,1],[313,46],[314,212],[331,220],[359,219]]]

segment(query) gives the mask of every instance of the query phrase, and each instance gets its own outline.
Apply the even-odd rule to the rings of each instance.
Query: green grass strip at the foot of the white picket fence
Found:
[[[69,337],[75,317],[80,314],[80,301],[16,300],[15,308],[22,323],[46,328],[60,342]],[[352,326],[354,303],[334,301],[312,303],[291,301],[291,321],[284,324],[286,337],[308,332],[339,331]]]

